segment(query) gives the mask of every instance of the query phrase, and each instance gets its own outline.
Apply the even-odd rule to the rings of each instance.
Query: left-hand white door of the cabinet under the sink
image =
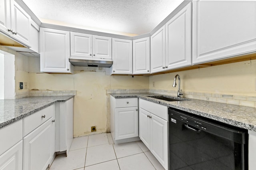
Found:
[[[150,116],[151,114],[148,111],[140,108],[139,112],[139,137],[140,140],[150,148]]]

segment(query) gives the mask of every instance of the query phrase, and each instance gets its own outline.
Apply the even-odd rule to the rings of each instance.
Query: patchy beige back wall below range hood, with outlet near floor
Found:
[[[77,91],[74,98],[74,137],[91,134],[91,126],[97,127],[97,133],[109,129],[107,89],[149,88],[149,77],[110,76],[105,75],[105,68],[95,67],[75,67],[75,70],[74,74],[48,74],[38,73],[34,68],[34,73],[29,73],[29,89]]]

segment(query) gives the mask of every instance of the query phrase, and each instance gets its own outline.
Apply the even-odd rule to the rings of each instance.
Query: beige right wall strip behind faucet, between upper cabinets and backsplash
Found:
[[[181,77],[184,93],[256,95],[256,60],[150,76],[150,89],[177,90],[178,86],[172,87],[176,74]]]

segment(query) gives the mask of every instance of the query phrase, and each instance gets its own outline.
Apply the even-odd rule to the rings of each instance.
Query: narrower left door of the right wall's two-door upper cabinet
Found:
[[[150,70],[156,73],[165,70],[165,26],[150,37]]]

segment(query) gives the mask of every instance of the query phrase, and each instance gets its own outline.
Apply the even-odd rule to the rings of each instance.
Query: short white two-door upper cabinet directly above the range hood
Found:
[[[112,38],[70,32],[70,52],[70,58],[74,59],[90,57],[90,59],[110,60],[112,59]]]

